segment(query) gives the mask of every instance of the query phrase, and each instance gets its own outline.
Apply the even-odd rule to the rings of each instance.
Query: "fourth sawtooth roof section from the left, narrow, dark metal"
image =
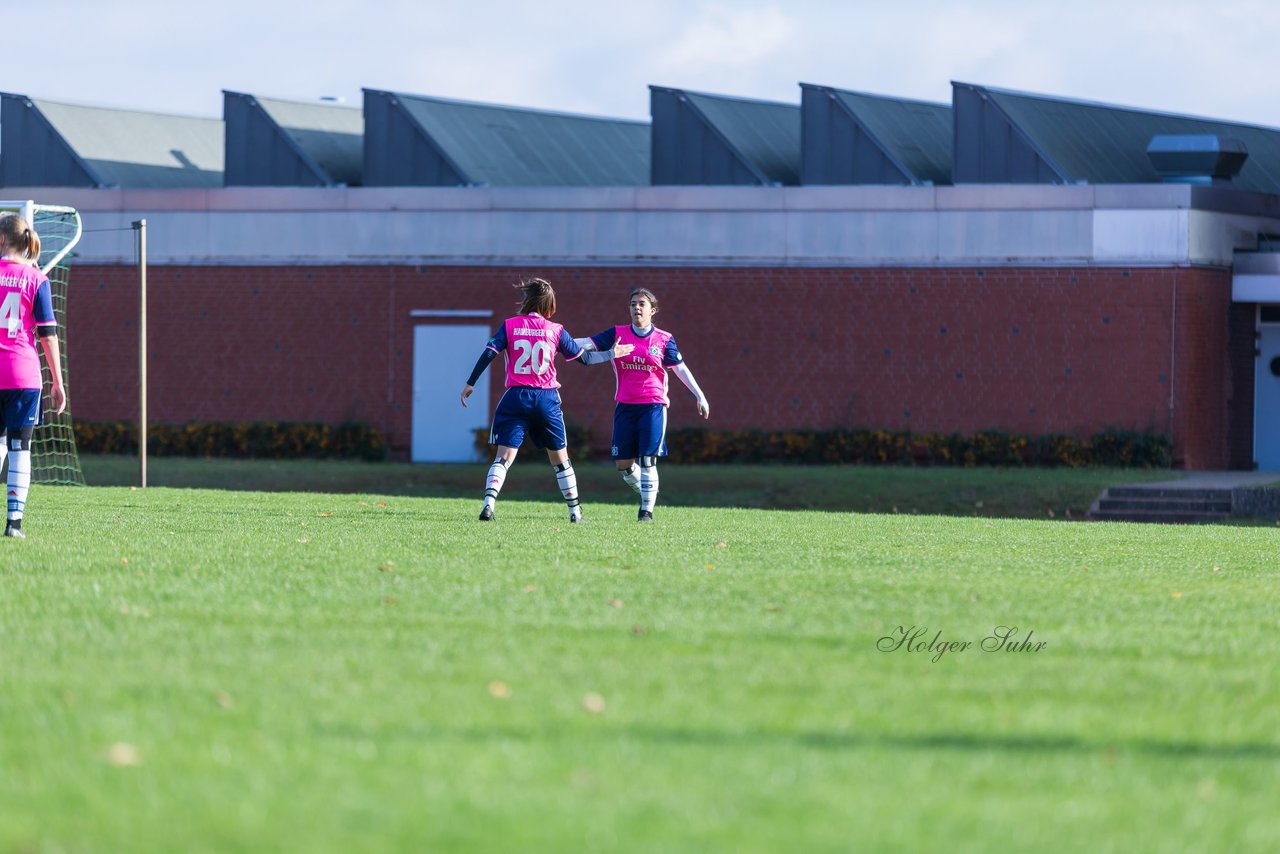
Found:
[[[660,136],[669,132],[666,117],[672,115],[669,110],[662,109],[662,99],[675,99],[686,105],[692,115],[705,122],[709,136],[699,141],[694,134],[698,149],[687,145],[689,129],[681,128],[677,133],[686,137],[684,151],[673,152],[684,160],[691,155],[705,156],[708,145],[718,141],[727,147],[731,156],[737,157],[741,164],[762,184],[790,184],[800,183],[800,106],[797,104],[781,104],[777,101],[758,101],[745,97],[732,97],[727,95],[708,95],[705,92],[691,92],[689,90],[650,86],[650,104],[654,113],[654,147],[663,145]],[[663,127],[659,127],[662,123]],[[669,145],[663,146],[669,150]],[[666,155],[664,155],[666,156]],[[695,157],[696,159],[696,157]],[[686,164],[680,164],[680,169],[687,170]],[[664,181],[659,174],[659,164],[654,163],[654,183],[741,183],[740,181],[718,181],[710,175],[709,181],[681,179]],[[685,172],[687,175],[687,172]]]

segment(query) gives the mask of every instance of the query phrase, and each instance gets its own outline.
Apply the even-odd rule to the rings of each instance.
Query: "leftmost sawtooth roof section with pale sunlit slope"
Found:
[[[27,108],[20,120],[32,127],[44,125],[47,142],[64,149],[65,157],[83,170],[83,181],[88,186],[169,188],[223,184],[220,119],[81,106],[20,95],[4,97],[6,104],[12,100],[14,106]],[[18,115],[23,111],[6,109],[5,124]],[[19,137],[19,150],[6,154],[26,159],[35,152],[24,142],[33,141],[27,129]],[[9,149],[8,132],[5,149]],[[31,186],[56,186],[61,181],[54,179],[73,177],[64,164],[47,175],[28,170],[24,179],[33,181]],[[5,182],[12,183],[8,172]]]

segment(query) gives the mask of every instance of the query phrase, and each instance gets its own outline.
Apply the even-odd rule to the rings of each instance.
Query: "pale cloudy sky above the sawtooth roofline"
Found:
[[[361,87],[649,117],[648,85],[799,104],[799,82],[950,102],[951,81],[1280,128],[1263,0],[36,0],[0,91],[220,117],[221,90]]]

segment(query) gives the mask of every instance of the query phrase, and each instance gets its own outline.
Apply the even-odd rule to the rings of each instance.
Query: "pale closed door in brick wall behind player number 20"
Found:
[[[462,408],[458,396],[489,341],[488,326],[413,328],[413,462],[471,462],[475,430],[489,428],[489,370]]]

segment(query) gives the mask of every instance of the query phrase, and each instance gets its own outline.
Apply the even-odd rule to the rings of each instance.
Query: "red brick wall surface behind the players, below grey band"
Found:
[[[488,309],[495,325],[534,274],[575,335],[626,323],[628,289],[653,289],[716,428],[1172,429],[1180,465],[1243,458],[1245,328],[1219,269],[152,266],[151,416],[365,420],[407,451],[413,326],[430,323],[410,311]],[[132,417],[136,274],[78,266],[72,288],[74,412]],[[570,420],[605,444],[612,371],[561,376]],[[672,388],[671,426],[701,424]]]

